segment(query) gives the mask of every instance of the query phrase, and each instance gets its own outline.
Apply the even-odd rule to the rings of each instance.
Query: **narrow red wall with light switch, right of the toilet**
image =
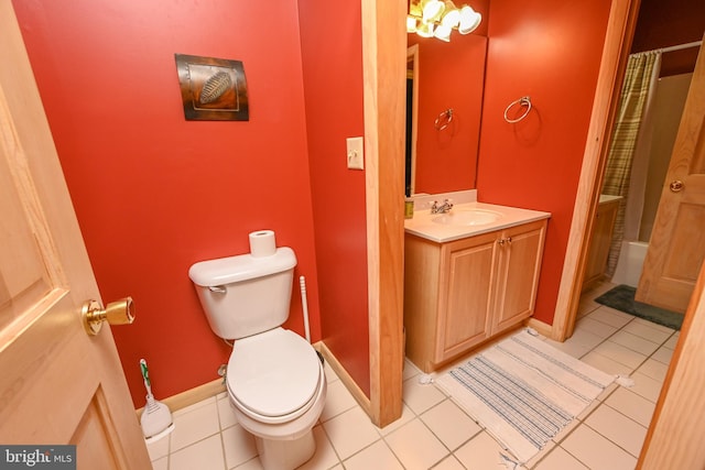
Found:
[[[299,8],[322,335],[369,396],[365,172],[346,160],[346,138],[365,133],[360,3]]]

